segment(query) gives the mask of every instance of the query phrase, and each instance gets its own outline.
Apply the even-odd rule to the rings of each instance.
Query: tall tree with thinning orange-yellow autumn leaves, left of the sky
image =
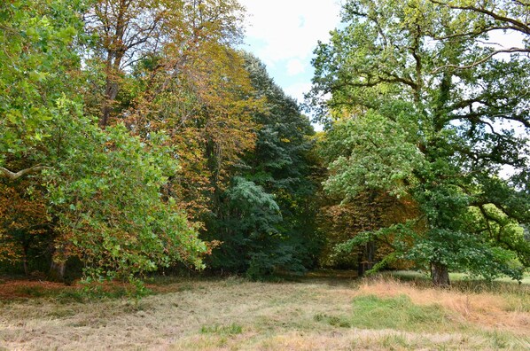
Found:
[[[114,84],[119,89],[109,111],[113,121],[123,121],[144,140],[153,132],[168,131],[167,143],[178,149],[181,167],[167,190],[178,197],[191,219],[204,222],[205,215],[214,212],[230,168],[254,142],[250,116],[260,103],[249,94],[243,58],[233,48],[240,40],[242,8],[232,0],[152,3],[163,12],[163,35],[156,45],[138,43],[141,50],[125,51],[134,59],[120,69]],[[145,20],[137,8],[144,3],[127,4],[127,26],[135,27],[136,21]],[[101,14],[96,22],[112,22],[108,16]],[[100,42],[105,45],[109,40]],[[105,55],[97,53],[95,58]]]

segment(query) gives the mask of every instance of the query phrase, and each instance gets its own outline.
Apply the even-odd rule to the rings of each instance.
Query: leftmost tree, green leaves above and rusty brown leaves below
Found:
[[[57,100],[73,100],[80,60],[73,43],[82,23],[80,2],[10,1],[0,4],[0,237],[25,272],[35,256],[51,256],[56,238],[42,171],[57,166],[65,135],[56,129]],[[38,250],[35,251],[35,246]]]

